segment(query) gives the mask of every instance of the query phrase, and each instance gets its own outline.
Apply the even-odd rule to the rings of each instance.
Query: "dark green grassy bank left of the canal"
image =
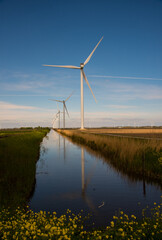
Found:
[[[0,209],[26,204],[35,186],[40,143],[48,128],[0,130]]]

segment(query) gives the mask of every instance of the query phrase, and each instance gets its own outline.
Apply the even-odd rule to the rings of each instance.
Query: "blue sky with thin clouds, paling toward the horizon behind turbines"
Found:
[[[0,0],[0,127],[51,126],[66,99],[67,127],[162,125],[161,0]],[[60,108],[62,106],[60,105]],[[57,126],[57,122],[55,122]]]

